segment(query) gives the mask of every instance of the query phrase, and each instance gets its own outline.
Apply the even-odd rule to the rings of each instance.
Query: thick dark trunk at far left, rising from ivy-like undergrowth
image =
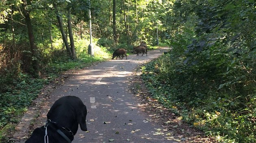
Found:
[[[22,0],[22,2],[23,2],[23,4],[22,4],[23,13],[24,13],[25,21],[26,21],[27,28],[28,28],[28,38],[29,38],[29,43],[30,43],[30,49],[31,49],[31,53],[32,53],[32,66],[34,69],[33,74],[34,74],[34,76],[38,77],[38,76],[40,76],[39,58],[37,55],[37,46],[36,46],[35,40],[34,40],[33,26],[31,24],[29,11],[26,10],[27,1]]]

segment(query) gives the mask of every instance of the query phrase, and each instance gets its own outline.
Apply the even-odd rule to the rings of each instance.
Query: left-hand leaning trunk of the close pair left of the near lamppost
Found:
[[[57,20],[58,20],[58,23],[59,23],[59,28],[61,30],[61,36],[62,36],[63,42],[64,42],[65,47],[67,49],[67,53],[69,54],[70,57],[72,57],[71,49],[69,48],[69,44],[67,42],[67,37],[66,37],[65,31],[64,31],[64,28],[63,28],[62,19],[61,19],[61,16],[59,15],[57,5],[56,4],[53,4],[53,5],[54,5],[55,11],[56,11],[56,17],[57,17]]]

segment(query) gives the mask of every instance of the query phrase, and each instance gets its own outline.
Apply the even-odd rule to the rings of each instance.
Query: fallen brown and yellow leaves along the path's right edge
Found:
[[[145,84],[141,80],[140,74],[135,72],[134,77],[135,78],[132,79],[132,88],[130,88],[130,90],[135,97],[140,99],[141,107],[149,117],[143,120],[143,122],[162,124],[163,127],[163,129],[155,129],[155,131],[152,132],[153,135],[161,135],[164,136],[166,140],[172,140],[179,143],[217,143],[214,139],[206,137],[199,129],[185,123],[182,116],[176,116],[172,112],[173,109],[177,110],[176,106],[167,109],[158,103],[157,99],[152,98],[146,89]],[[140,85],[139,91],[136,88],[137,85]],[[193,125],[198,126],[199,123],[194,123]],[[154,126],[154,124],[152,124],[152,126]],[[141,138],[151,139],[150,137]]]

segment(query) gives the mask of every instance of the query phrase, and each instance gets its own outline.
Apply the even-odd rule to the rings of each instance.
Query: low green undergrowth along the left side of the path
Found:
[[[87,53],[87,40],[76,40],[76,54],[78,59],[72,60],[61,48],[41,48],[40,71],[41,78],[33,78],[23,69],[21,57],[10,59],[6,67],[0,69],[0,142],[8,142],[9,134],[18,124],[27,108],[40,93],[46,84],[57,78],[63,71],[84,68],[95,62],[110,58],[106,47],[94,47],[94,56]],[[7,49],[7,48],[6,48]],[[8,54],[8,51],[6,52]],[[6,55],[0,58],[7,59]],[[5,57],[4,57],[5,56]],[[10,66],[11,65],[11,66]]]

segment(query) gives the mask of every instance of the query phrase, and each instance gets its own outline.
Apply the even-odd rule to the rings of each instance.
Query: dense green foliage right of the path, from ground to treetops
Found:
[[[172,50],[143,67],[152,95],[219,142],[256,142],[255,1],[180,0],[172,8]]]

